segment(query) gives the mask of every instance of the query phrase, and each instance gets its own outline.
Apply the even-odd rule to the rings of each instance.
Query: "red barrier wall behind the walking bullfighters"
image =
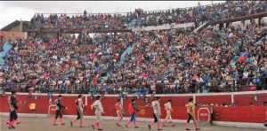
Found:
[[[8,112],[9,107],[7,104],[7,98],[10,95],[0,96],[0,112]],[[233,95],[234,102],[238,105],[238,107],[214,107],[214,120],[217,121],[232,121],[232,122],[252,122],[252,123],[263,123],[265,120],[267,107],[260,106],[263,101],[266,101],[267,93],[259,93],[258,101],[255,102],[254,107],[243,106],[246,105],[247,102],[244,102],[244,99],[251,98],[253,100],[255,94],[243,94],[243,95]],[[85,104],[84,96],[84,104]],[[161,96],[161,105],[163,106],[168,99],[173,100],[173,108],[174,112],[172,114],[173,119],[187,119],[186,108],[184,104],[188,102],[188,99],[193,97],[189,96]],[[53,101],[56,96],[53,96]],[[105,96],[102,99],[102,104],[104,106],[104,114],[103,116],[117,116],[114,104],[117,102],[117,96]],[[149,96],[149,103],[146,103],[141,99],[136,100],[136,104],[140,110],[144,110],[144,114],[136,113],[137,118],[152,118],[152,108],[145,107],[145,105],[150,104],[151,97]],[[18,102],[26,101],[27,104],[19,104],[20,110],[19,113],[48,113],[49,99],[47,96],[41,95],[38,99],[35,99],[34,96],[28,97],[28,95],[17,95]],[[73,95],[63,95],[62,103],[65,104],[69,109],[63,110],[63,114],[66,115],[76,115],[76,104],[75,100],[77,96]],[[129,96],[127,99],[124,99],[124,109],[125,116],[128,117],[129,113],[127,112],[127,106],[131,102],[132,97]],[[197,104],[230,104],[231,103],[231,95],[217,95],[217,96],[195,96]],[[93,104],[94,100],[91,100],[90,96],[87,96],[87,106],[85,106],[84,114],[85,116],[93,116],[94,111],[91,110],[90,105]],[[36,110],[31,111],[28,108],[28,105],[31,103],[36,104]],[[55,111],[51,111],[51,114],[54,114]],[[198,109],[196,110],[198,112]],[[200,119],[206,119],[206,111],[201,112]],[[196,115],[197,116],[197,115]],[[162,118],[166,117],[166,111],[162,108]],[[202,117],[202,118],[201,118]]]

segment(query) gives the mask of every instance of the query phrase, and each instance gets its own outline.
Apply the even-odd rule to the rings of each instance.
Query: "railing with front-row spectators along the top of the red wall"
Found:
[[[256,81],[257,79],[257,81]],[[30,84],[30,83],[13,83],[11,81],[0,83],[2,93],[17,89],[20,92],[29,92],[29,88],[34,88],[39,93],[62,93],[62,94],[120,94],[135,96],[143,96],[147,94],[184,94],[184,93],[209,93],[209,92],[238,92],[250,90],[263,90],[266,88],[267,77],[247,78],[231,81],[188,81],[180,83],[154,83],[154,84],[138,84],[138,83],[113,83],[109,88],[104,85],[93,84],[91,82],[81,82],[82,84],[73,84],[66,86],[64,84]],[[154,90],[155,88],[155,90]]]

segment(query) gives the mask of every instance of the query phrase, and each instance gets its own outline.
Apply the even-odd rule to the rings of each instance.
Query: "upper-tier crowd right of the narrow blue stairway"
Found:
[[[200,5],[184,9],[172,9],[167,11],[143,12],[138,18],[139,26],[158,26],[172,23],[194,22],[195,27],[206,21],[212,23],[217,20],[231,19],[247,16],[256,12],[267,11],[266,1],[229,1],[220,4]]]

